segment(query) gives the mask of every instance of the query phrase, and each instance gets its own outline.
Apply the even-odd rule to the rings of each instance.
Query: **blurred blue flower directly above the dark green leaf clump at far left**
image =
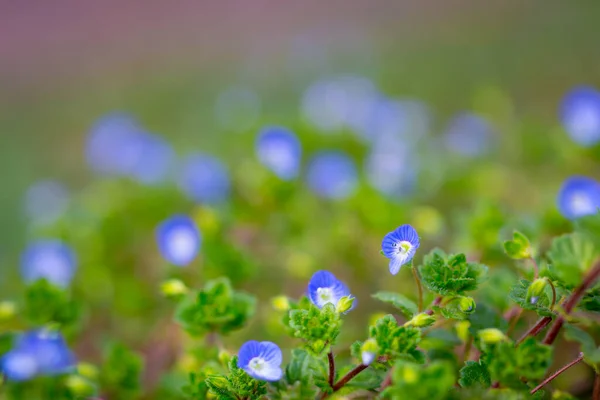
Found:
[[[21,275],[25,282],[46,279],[64,288],[71,283],[76,267],[75,253],[58,240],[33,242],[21,255]]]

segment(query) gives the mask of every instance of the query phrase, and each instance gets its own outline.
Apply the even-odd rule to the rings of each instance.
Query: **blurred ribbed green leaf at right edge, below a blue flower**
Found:
[[[577,286],[599,256],[598,246],[588,235],[575,232],[557,237],[548,251],[550,273],[567,287]]]

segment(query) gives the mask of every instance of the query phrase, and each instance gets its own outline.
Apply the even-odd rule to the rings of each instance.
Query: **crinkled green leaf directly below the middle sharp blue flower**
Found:
[[[333,304],[323,308],[311,304],[308,309],[290,310],[288,323],[293,336],[302,339],[305,348],[318,356],[335,344],[342,319]]]

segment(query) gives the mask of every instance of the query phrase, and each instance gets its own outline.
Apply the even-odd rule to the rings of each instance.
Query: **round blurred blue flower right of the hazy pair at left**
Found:
[[[229,175],[219,159],[196,153],[183,161],[179,187],[198,203],[218,204],[229,197]]]

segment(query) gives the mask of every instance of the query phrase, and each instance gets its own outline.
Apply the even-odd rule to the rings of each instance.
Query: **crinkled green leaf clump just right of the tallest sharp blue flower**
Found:
[[[435,249],[425,256],[419,272],[429,290],[443,296],[454,296],[477,289],[487,275],[487,267],[467,262],[464,254],[447,255]]]

